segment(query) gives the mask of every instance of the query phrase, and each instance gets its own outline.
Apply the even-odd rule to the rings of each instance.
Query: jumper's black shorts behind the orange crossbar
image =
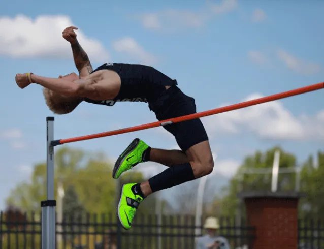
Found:
[[[176,85],[172,85],[169,89],[164,87],[160,96],[149,102],[149,108],[159,121],[197,112],[195,99],[185,95]],[[191,146],[208,140],[203,123],[198,118],[168,124],[164,128],[175,136],[184,152]]]

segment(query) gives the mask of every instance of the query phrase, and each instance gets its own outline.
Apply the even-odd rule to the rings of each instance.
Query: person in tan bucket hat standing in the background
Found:
[[[231,249],[228,240],[218,235],[219,227],[216,217],[208,217],[204,224],[207,234],[197,238],[195,249]]]

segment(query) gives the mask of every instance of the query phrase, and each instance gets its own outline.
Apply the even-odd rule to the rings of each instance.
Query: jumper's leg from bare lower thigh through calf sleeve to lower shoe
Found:
[[[148,195],[212,172],[214,164],[208,140],[189,147],[186,154],[190,161],[188,163],[169,167],[145,182],[123,185],[118,204],[118,217],[125,229],[131,228],[137,208]]]

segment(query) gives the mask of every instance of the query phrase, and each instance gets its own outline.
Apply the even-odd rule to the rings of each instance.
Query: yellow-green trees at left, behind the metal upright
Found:
[[[62,147],[55,151],[54,189],[62,183],[65,196],[64,212],[115,213],[120,186],[112,178],[112,164],[102,153],[87,153],[80,149]],[[139,172],[126,172],[121,183],[141,182]],[[54,192],[57,199],[57,191]],[[40,202],[46,200],[46,163],[34,166],[28,182],[22,182],[7,198],[7,205],[24,211],[41,211]],[[154,212],[154,195],[149,196],[139,212]]]

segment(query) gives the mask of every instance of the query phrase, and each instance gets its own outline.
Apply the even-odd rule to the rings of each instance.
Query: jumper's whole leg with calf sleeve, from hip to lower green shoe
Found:
[[[174,88],[169,101],[164,103],[166,110],[157,117],[164,120],[196,112],[195,100]],[[163,108],[162,108],[163,109]],[[142,183],[125,184],[118,205],[118,217],[125,229],[131,228],[136,209],[143,199],[159,190],[172,188],[187,181],[207,175],[213,169],[213,157],[208,136],[200,119],[170,124],[164,127],[172,133],[179,147],[185,151],[187,161],[169,167]]]

